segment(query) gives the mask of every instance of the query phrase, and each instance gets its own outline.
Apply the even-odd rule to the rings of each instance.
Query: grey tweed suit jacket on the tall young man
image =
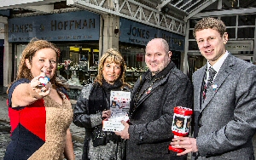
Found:
[[[256,66],[229,54],[201,104],[206,67],[193,74],[198,159],[253,159]]]

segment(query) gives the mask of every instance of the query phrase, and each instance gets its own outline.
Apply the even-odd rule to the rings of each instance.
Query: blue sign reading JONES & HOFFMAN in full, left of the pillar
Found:
[[[99,14],[78,11],[9,19],[9,43],[99,40]]]

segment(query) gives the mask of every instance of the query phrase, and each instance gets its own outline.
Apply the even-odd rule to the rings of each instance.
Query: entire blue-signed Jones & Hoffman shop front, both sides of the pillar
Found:
[[[22,51],[32,38],[55,43],[61,51],[57,78],[66,83],[70,99],[77,100],[80,89],[93,83],[98,60],[100,41],[100,15],[88,11],[45,14],[9,19],[9,43],[13,45],[13,77],[17,73]],[[144,62],[145,46],[154,37],[162,37],[170,45],[172,61],[181,66],[184,37],[172,32],[146,26],[132,20],[119,18],[119,51],[127,66],[126,82],[135,83],[147,71]]]

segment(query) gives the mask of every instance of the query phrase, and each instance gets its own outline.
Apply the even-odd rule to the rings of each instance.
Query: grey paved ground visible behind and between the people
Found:
[[[6,106],[7,94],[5,89],[0,86],[0,159],[3,159],[6,146],[9,145],[10,141],[10,126],[8,107]],[[75,100],[71,100],[73,106]],[[73,123],[70,125],[70,131],[73,139],[73,150],[76,160],[82,159],[83,142],[84,142],[84,129],[75,126]],[[254,156],[256,157],[256,134],[253,136]],[[188,160],[190,159],[190,154]]]

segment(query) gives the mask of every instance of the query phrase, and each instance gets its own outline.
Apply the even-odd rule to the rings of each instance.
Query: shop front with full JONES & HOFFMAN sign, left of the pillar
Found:
[[[76,100],[83,84],[96,75],[99,58],[100,15],[88,11],[46,14],[9,19],[9,43],[13,45],[17,73],[22,51],[32,38],[55,43],[61,51],[57,78],[66,83]]]

